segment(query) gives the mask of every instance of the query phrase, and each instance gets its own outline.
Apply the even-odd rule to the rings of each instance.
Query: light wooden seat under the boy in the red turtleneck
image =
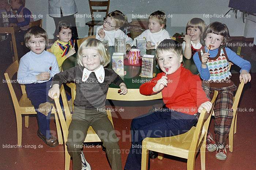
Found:
[[[193,126],[184,134],[164,138],[145,138],[143,143],[146,142],[148,150],[188,159],[188,151],[195,130],[196,127]]]

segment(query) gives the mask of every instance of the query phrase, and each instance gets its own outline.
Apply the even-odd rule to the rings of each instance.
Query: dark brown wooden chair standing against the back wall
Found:
[[[109,3],[108,1],[89,1],[90,11],[91,11],[91,21],[87,22],[86,25],[89,26],[89,32],[88,36],[93,35],[94,33],[94,26],[95,25],[103,25],[103,20],[94,20],[94,13],[93,12],[106,12],[106,15],[108,15],[109,12]],[[99,7],[106,7],[106,9],[99,9]]]

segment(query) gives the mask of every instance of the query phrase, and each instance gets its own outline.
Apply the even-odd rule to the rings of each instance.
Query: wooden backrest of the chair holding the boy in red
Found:
[[[211,100],[212,103],[212,108],[210,110],[209,113],[207,113],[207,111],[205,109],[203,109],[203,111],[201,112],[197,125],[196,125],[196,130],[191,142],[191,146],[189,149],[189,154],[188,157],[192,158],[196,156],[197,151],[200,149],[200,147],[203,145],[203,141],[204,139],[206,139],[206,135],[207,135],[207,131],[208,131],[208,127],[209,127],[209,123],[210,123],[210,119],[211,119],[211,115],[212,115],[212,110],[214,108],[214,104],[215,104],[215,100],[217,98],[218,92],[214,91],[214,96]]]

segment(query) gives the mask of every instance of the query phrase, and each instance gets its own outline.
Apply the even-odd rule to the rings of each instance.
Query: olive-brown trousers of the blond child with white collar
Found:
[[[93,127],[103,142],[112,170],[121,170],[121,151],[118,146],[118,138],[106,111],[86,110],[76,106],[72,114],[72,121],[68,129],[68,142],[66,143],[68,153],[73,158],[73,170],[81,169],[80,154],[89,126]]]

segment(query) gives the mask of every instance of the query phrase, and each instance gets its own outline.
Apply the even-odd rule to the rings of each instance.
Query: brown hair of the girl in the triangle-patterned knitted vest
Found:
[[[204,39],[206,38],[208,33],[214,33],[217,35],[223,36],[222,45],[220,48],[226,47],[226,43],[231,40],[229,35],[229,29],[227,28],[226,24],[222,24],[220,22],[213,22],[210,25],[208,25],[203,32],[203,35],[200,39],[200,43],[205,46]]]

